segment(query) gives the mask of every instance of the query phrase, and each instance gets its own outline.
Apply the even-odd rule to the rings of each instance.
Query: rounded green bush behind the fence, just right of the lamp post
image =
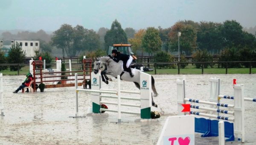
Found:
[[[192,61],[193,62],[212,62],[213,58],[212,58],[212,55],[210,55],[206,49],[204,50],[199,49],[192,54]],[[212,67],[212,64],[211,63],[204,64],[204,68],[207,68],[208,66]],[[195,67],[198,69],[202,68],[202,64],[195,64]]]

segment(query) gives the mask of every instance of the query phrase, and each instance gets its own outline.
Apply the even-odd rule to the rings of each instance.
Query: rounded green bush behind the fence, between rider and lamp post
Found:
[[[174,58],[167,52],[160,51],[154,55],[155,62],[173,62]],[[175,64],[157,64],[157,68],[175,68]]]

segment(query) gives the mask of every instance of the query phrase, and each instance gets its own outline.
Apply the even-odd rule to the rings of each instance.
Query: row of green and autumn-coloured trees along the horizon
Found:
[[[133,28],[122,29],[121,23],[114,20],[110,29],[102,27],[98,32],[80,25],[73,27],[63,24],[52,35],[48,35],[49,37],[43,30],[34,33],[20,32],[17,36],[28,35],[28,39],[44,38],[41,39],[43,52],[50,52],[56,47],[62,50],[63,56],[77,56],[99,48],[106,51],[108,46],[120,43],[132,44],[133,52],[139,55],[145,55],[145,52],[147,55],[155,55],[160,51],[177,55],[178,32],[181,32],[181,55],[192,55],[198,50],[206,50],[210,55],[241,52],[242,49],[249,53],[256,51],[256,34],[244,31],[236,20],[226,20],[223,23],[181,20],[166,29],[159,26],[137,31]],[[14,37],[8,32],[2,36]]]

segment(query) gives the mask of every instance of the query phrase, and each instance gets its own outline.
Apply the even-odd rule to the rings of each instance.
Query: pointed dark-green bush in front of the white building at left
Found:
[[[26,57],[26,52],[21,49],[21,46],[16,42],[15,45],[12,45],[12,48],[9,51],[7,61],[9,64],[24,64]],[[11,71],[20,70],[24,66],[10,66]]]

